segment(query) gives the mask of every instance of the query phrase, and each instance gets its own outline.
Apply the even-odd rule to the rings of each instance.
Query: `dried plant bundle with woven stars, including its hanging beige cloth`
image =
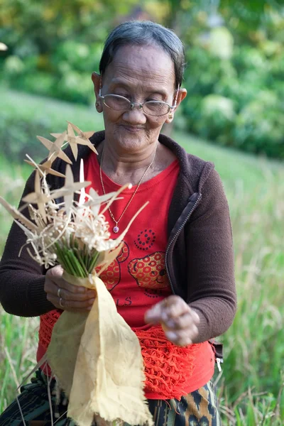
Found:
[[[152,417],[143,397],[143,359],[138,338],[117,313],[111,295],[98,278],[118,256],[122,240],[129,230],[129,226],[148,202],[138,209],[119,237],[111,239],[109,223],[104,217],[104,213],[112,202],[121,199],[121,192],[126,187],[130,188],[131,185],[124,185],[118,191],[102,196],[99,196],[91,188],[87,195],[85,188],[91,182],[84,181],[83,161],[81,160],[80,165],[80,182],[74,182],[72,161],[62,151],[62,148],[69,143],[75,160],[77,160],[78,145],[89,146],[94,153],[97,153],[88,138],[94,132],[82,132],[75,124],[67,123],[67,131],[51,133],[52,136],[55,136],[54,142],[37,136],[38,140],[48,148],[48,158],[43,163],[37,164],[28,156],[26,162],[35,168],[34,190],[23,197],[21,208],[12,207],[2,197],[0,197],[0,204],[11,214],[16,224],[26,234],[24,246],[27,246],[28,253],[36,262],[45,266],[45,268],[60,264],[65,271],[65,280],[68,280],[72,285],[84,285],[97,290],[97,299],[92,310],[86,312],[86,315],[81,314],[78,317],[74,312],[65,311],[62,313],[55,324],[48,347],[48,362],[53,368],[53,373],[64,383],[64,390],[67,395],[72,395],[68,408],[70,415],[74,413],[74,418],[79,426],[90,426],[93,416],[97,416],[97,420],[101,422],[117,420],[134,422],[133,424],[148,423],[148,425],[152,425]],[[56,158],[67,163],[65,175],[53,168]],[[56,190],[50,190],[47,180],[48,174],[64,178],[64,185]],[[79,195],[79,201],[75,200],[75,194]],[[29,219],[22,213],[26,208],[28,208]],[[21,256],[21,251],[19,256]],[[109,307],[109,312],[107,307]],[[109,316],[110,313],[111,316]],[[75,328],[70,329],[70,324],[76,324],[76,327],[81,324],[81,332],[77,335],[77,339],[75,339]],[[105,340],[106,337],[102,334],[102,330],[107,332],[108,327],[113,330],[111,342]],[[62,339],[65,340],[62,341]],[[132,348],[133,353],[131,356],[121,355],[120,358],[124,359],[124,368],[128,366],[129,371],[133,371],[133,375],[131,375],[133,376],[132,388],[125,383],[125,374],[120,376],[120,386],[117,386],[117,383],[114,386],[113,377],[117,374],[121,359],[116,360],[117,365],[106,365],[104,377],[106,383],[109,383],[112,388],[114,400],[112,407],[108,410],[105,404],[105,400],[108,398],[107,387],[102,386],[102,383],[99,382],[101,378],[95,372],[98,366],[104,368],[104,356],[106,356],[107,351],[115,352],[117,349],[117,351],[123,353],[124,342],[126,341],[128,342],[127,351],[131,352]],[[99,346],[97,346],[98,342]],[[109,349],[107,349],[106,344],[111,344],[114,347],[110,348],[109,346]],[[97,348],[96,351],[94,351],[95,347]],[[105,349],[100,351],[99,348]],[[92,391],[91,388],[89,393],[85,394],[85,399],[80,399],[80,404],[85,413],[81,417],[81,414],[77,411],[77,400],[74,395],[82,391],[80,389],[80,383],[82,383],[80,377],[88,373],[88,371],[85,371],[88,366],[82,364],[82,354],[86,351],[90,354],[92,354],[92,351],[95,352],[89,358],[89,364],[92,364],[89,365],[89,368],[93,371],[91,385],[94,390]],[[70,359],[70,352],[72,353],[72,362],[68,364],[66,359]],[[136,359],[135,364],[133,364],[133,356]],[[72,385],[73,377],[76,380]],[[103,391],[94,396],[97,388],[102,388]],[[91,400],[89,400],[90,398]],[[123,412],[121,401],[124,400],[124,407],[126,407],[128,398],[135,403],[135,410],[133,411],[133,408],[129,407]]]

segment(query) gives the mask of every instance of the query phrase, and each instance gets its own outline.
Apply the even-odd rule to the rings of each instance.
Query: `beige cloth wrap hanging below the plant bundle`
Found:
[[[63,278],[97,291],[92,310],[62,312],[48,346],[48,363],[69,398],[68,417],[90,426],[94,415],[129,425],[153,425],[143,393],[143,358],[136,334],[117,313],[98,277]]]

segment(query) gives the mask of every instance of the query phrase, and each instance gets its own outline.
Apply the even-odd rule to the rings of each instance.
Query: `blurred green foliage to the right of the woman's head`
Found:
[[[224,146],[284,158],[280,2],[168,0],[188,66],[178,125]]]

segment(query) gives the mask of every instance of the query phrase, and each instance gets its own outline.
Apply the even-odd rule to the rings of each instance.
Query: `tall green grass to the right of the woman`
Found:
[[[224,425],[283,425],[284,167],[182,133],[175,138],[215,163],[231,212],[239,303],[222,337]]]

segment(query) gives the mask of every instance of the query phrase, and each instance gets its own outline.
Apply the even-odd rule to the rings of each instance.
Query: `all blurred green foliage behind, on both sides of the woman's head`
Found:
[[[107,33],[131,18],[150,18],[185,43],[188,95],[176,126],[223,146],[284,158],[280,2],[0,0],[0,9],[0,40],[9,46],[0,52],[0,78],[9,87],[92,104],[90,75]],[[8,115],[0,126],[11,129]]]

